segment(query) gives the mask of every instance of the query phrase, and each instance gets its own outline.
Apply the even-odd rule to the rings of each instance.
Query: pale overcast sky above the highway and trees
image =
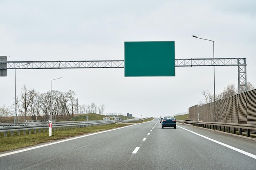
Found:
[[[0,56],[7,61],[124,60],[124,41],[175,41],[175,58],[246,57],[256,86],[255,0],[0,0]],[[73,90],[105,113],[159,117],[188,111],[213,93],[212,67],[176,67],[175,77],[124,77],[124,68],[17,70],[38,92]],[[216,94],[238,85],[236,66],[216,67]],[[0,77],[0,106],[14,102],[15,71]]]

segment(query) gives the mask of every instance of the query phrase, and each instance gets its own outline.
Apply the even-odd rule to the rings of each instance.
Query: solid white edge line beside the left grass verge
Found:
[[[107,130],[107,131],[100,131],[100,132],[96,132],[96,133],[91,133],[91,134],[88,134],[88,135],[82,135],[82,136],[78,136],[78,137],[73,137],[73,138],[70,138],[70,139],[60,140],[60,141],[57,141],[57,142],[52,142],[52,143],[49,143],[49,144],[43,144],[43,145],[40,145],[40,146],[34,146],[34,147],[31,147],[31,148],[16,150],[16,151],[13,151],[13,152],[0,154],[0,157],[4,157],[4,156],[7,156],[7,155],[13,155],[13,154],[16,154],[16,153],[21,153],[21,152],[25,152],[25,151],[33,150],[33,149],[37,149],[37,148],[42,148],[42,147],[45,147],[45,146],[50,146],[50,145],[54,145],[54,144],[58,144],[58,143],[61,143],[61,142],[66,142],[66,141],[70,141],[70,140],[74,140],[74,139],[79,139],[79,138],[82,138],[82,137],[87,137],[87,136],[91,136],[91,135],[97,135],[99,133],[115,131],[115,130],[118,130],[118,129],[130,127],[130,126],[135,126],[135,125],[137,125],[137,124],[132,124],[132,125],[129,125],[129,126],[123,126],[123,127],[117,128],[117,129],[110,129],[110,130]]]

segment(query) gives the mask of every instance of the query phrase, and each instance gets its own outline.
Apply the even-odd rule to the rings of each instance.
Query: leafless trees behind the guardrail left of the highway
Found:
[[[13,116],[11,107],[0,107],[0,121],[5,122],[7,116]],[[97,106],[94,102],[90,105],[79,105],[76,92],[69,90],[68,92],[60,92],[57,90],[48,91],[46,93],[36,92],[35,89],[27,89],[26,85],[21,88],[21,93],[16,97],[16,113],[24,117],[32,119],[49,119],[52,116],[63,116],[72,118],[74,114],[99,113],[103,114],[105,105]]]

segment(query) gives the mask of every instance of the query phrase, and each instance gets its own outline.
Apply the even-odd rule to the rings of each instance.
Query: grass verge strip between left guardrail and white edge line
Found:
[[[17,133],[14,133],[14,135],[11,136],[11,133],[7,133],[7,137],[4,137],[3,134],[1,134],[0,152],[23,148],[27,146],[34,146],[40,143],[51,142],[54,140],[65,139],[65,138],[74,137],[78,135],[84,135],[87,133],[94,133],[94,132],[104,131],[108,129],[114,129],[114,128],[127,126],[127,125],[128,124],[108,124],[104,126],[91,126],[91,127],[84,127],[84,128],[52,131],[51,137],[49,137],[49,132],[47,131],[43,132],[42,130],[41,130],[41,133],[38,133],[37,131],[36,134],[34,134],[34,131],[32,131],[31,134],[28,134],[28,131],[27,131],[26,135],[23,135],[23,133],[20,133],[20,135],[17,135]]]

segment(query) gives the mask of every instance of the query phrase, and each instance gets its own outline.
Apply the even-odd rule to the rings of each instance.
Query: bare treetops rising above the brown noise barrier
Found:
[[[247,91],[255,89],[254,85],[252,85],[252,83],[250,83],[250,82],[247,82],[246,88],[247,88]],[[234,84],[229,84],[229,85],[227,85],[227,87],[225,87],[223,89],[222,93],[215,94],[215,100],[228,98],[228,97],[234,96],[236,94],[238,94],[238,87],[236,87],[236,85],[234,85]],[[202,92],[202,95],[204,96],[204,98],[203,98],[203,100],[199,101],[199,105],[204,105],[206,103],[210,103],[210,102],[214,101],[214,95],[211,94],[209,89],[204,90]]]

